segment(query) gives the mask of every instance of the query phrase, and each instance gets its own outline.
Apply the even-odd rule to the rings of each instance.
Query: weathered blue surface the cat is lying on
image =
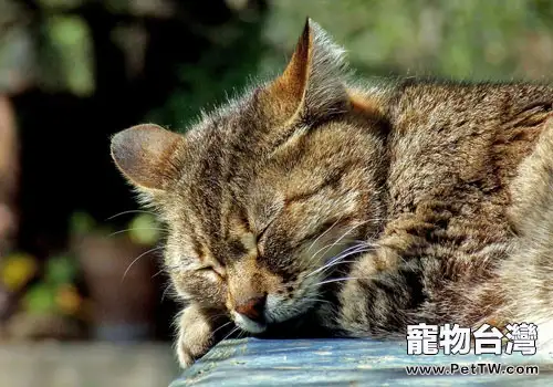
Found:
[[[410,376],[406,365],[538,364],[540,375]],[[407,355],[372,339],[229,339],[188,368],[182,386],[553,386],[553,364],[522,355]]]

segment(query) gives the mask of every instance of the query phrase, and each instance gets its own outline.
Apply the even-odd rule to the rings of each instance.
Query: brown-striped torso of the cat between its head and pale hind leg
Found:
[[[379,259],[418,262],[430,320],[483,321],[502,304],[484,284],[517,245],[513,188],[553,122],[553,88],[409,80],[387,106]]]

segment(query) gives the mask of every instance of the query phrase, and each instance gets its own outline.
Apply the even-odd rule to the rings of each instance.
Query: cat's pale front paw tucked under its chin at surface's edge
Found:
[[[187,306],[180,314],[176,352],[182,368],[192,365],[216,344],[212,320],[196,304]]]

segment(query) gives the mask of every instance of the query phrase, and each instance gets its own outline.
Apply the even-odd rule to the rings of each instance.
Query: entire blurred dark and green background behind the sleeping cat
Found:
[[[553,76],[549,0],[0,0],[0,343],[171,339],[163,226],[109,136],[186,130],[282,70],[307,15],[368,79]]]

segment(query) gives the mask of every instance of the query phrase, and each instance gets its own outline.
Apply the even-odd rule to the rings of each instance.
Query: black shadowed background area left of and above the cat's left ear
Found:
[[[165,117],[161,118],[165,125],[185,122],[186,114],[180,118],[170,113],[165,115],[161,106],[175,93],[195,92],[195,85],[182,80],[179,71],[186,71],[187,64],[201,62],[206,52],[212,52],[213,56],[209,67],[202,69],[210,79],[225,79],[225,71],[242,65],[239,62],[255,63],[249,52],[242,52],[244,45],[257,44],[251,35],[259,29],[255,24],[262,21],[265,4],[252,1],[249,7],[257,19],[254,22],[240,20],[218,0],[175,1],[171,14],[166,18],[113,14],[97,1],[56,11],[56,17],[79,15],[88,27],[94,52],[94,92],[90,96],[79,96],[63,91],[44,91],[36,84],[13,95],[21,133],[21,247],[38,255],[62,249],[66,243],[67,219],[75,209],[84,209],[102,221],[136,207],[111,160],[109,136],[143,122],[148,114],[154,115],[153,106],[160,107],[157,116]],[[54,11],[36,2],[27,2],[25,12],[29,29],[35,32],[42,45],[39,50],[48,56],[45,46],[49,43],[44,42],[41,28]],[[223,24],[230,24],[229,28],[239,31],[240,35],[225,48],[213,46],[206,34]],[[142,71],[133,75],[128,74],[124,53],[112,39],[112,31],[121,25],[139,25],[148,36]],[[205,33],[195,33],[194,25]],[[222,92],[213,86],[218,87],[205,85],[215,95]]]

